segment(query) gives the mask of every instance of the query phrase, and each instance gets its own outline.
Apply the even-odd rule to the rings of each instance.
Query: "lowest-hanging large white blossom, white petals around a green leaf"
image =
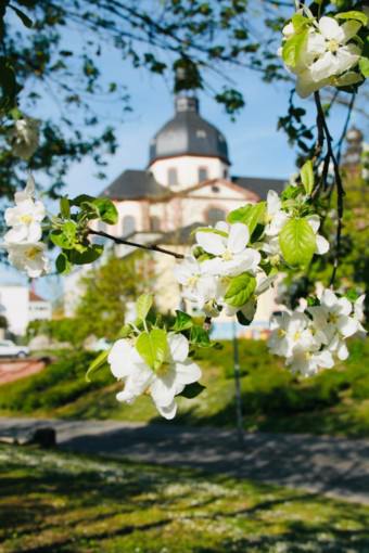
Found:
[[[156,409],[165,419],[173,419],[177,412],[175,396],[183,391],[187,384],[201,377],[201,370],[189,356],[189,342],[182,334],[168,334],[168,351],[163,364],[153,371],[140,357],[133,343],[117,340],[107,361],[116,378],[125,381],[125,388],[118,393],[118,401],[131,403],[148,393]]]

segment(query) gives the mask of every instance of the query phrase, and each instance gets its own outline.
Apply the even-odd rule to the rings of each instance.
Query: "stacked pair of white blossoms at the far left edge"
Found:
[[[5,209],[5,223],[10,230],[4,235],[3,247],[8,250],[9,261],[28,276],[36,278],[49,270],[46,244],[42,239],[42,220],[46,217],[44,205],[35,201],[35,181],[28,177],[26,188],[15,193],[15,206]]]

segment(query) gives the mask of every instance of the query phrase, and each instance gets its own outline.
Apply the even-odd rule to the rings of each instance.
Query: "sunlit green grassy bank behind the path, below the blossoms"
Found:
[[[269,356],[263,342],[240,340],[242,409],[250,430],[369,436],[369,345],[349,344],[347,362],[313,378],[296,378]],[[65,419],[160,421],[148,397],[132,406],[118,403],[109,370],[85,381],[90,353],[67,352],[38,375],[0,388],[0,414]],[[206,389],[192,400],[180,399],[170,424],[233,426],[232,345],[203,351],[198,362]]]

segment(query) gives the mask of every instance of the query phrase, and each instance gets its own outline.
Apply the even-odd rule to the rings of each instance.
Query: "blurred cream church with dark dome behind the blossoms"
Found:
[[[148,168],[124,170],[102,196],[114,201],[119,213],[118,222],[106,227],[109,233],[183,252],[195,227],[213,224],[245,203],[265,200],[269,189],[280,192],[284,181],[231,176],[226,138],[200,115],[198,99],[178,95],[175,107],[175,116],[150,143]],[[128,252],[124,246],[116,248],[117,255]],[[164,311],[178,308],[179,290],[171,276],[174,259],[160,254],[154,258],[156,303]],[[68,314],[75,291],[73,276],[65,290]],[[273,297],[273,293],[263,296],[255,327],[267,327],[276,309]],[[218,337],[230,335],[229,320],[218,319],[215,332]]]

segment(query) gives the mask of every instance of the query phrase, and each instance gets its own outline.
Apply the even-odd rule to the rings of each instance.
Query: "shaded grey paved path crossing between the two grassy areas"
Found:
[[[369,504],[369,439],[244,434],[174,424],[1,419],[0,436],[51,425],[61,447],[147,463],[194,466]]]

